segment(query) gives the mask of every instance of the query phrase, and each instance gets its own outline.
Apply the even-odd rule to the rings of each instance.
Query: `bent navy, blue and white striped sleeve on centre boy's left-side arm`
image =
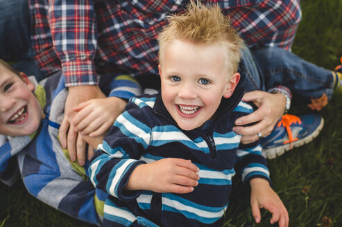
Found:
[[[123,190],[135,167],[145,163],[139,161],[139,157],[151,139],[151,128],[135,118],[137,114],[143,114],[142,110],[129,102],[126,111],[117,118],[99,145],[89,166],[90,179],[95,187],[118,199],[135,199],[142,192]]]

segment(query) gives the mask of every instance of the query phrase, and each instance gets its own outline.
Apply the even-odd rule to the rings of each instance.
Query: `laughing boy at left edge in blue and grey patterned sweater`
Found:
[[[128,99],[140,91],[129,76],[108,76],[107,80],[101,89],[110,97],[103,100]],[[7,139],[0,145],[0,180],[15,183],[19,165],[24,185],[34,197],[71,217],[100,225],[107,194],[89,181],[89,163],[72,162],[58,140],[66,98],[62,72],[35,86],[24,73],[0,60],[0,134]],[[96,108],[103,109],[96,101]],[[104,112],[101,115],[106,116]],[[102,139],[100,135],[87,141],[94,146]]]

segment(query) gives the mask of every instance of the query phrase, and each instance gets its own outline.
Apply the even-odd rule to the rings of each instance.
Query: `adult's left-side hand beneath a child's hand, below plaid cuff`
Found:
[[[80,165],[85,163],[85,141],[81,135],[78,135],[76,129],[70,124],[76,115],[73,111],[74,107],[81,102],[86,102],[94,98],[105,98],[105,95],[97,85],[84,85],[77,87],[69,87],[69,94],[65,102],[65,115],[58,131],[60,144],[64,149],[68,149],[71,161],[76,161]]]

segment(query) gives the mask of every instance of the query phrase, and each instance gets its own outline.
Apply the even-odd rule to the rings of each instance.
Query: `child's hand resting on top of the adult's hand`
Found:
[[[115,119],[123,112],[126,101],[117,97],[98,98],[83,102],[73,111],[78,112],[71,121],[76,131],[83,136],[105,134]]]

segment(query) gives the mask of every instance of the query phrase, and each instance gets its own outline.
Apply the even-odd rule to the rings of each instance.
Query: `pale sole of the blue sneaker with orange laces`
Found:
[[[268,159],[273,159],[273,158],[276,158],[277,156],[281,156],[282,154],[289,151],[290,149],[293,149],[294,147],[300,147],[302,145],[310,143],[312,140],[314,140],[314,138],[316,138],[319,135],[320,130],[323,129],[324,119],[322,117],[321,117],[321,119],[322,120],[320,121],[320,124],[318,125],[316,130],[313,133],[311,133],[309,136],[302,138],[301,140],[298,140],[296,142],[293,142],[292,148],[291,148],[291,144],[287,144],[287,145],[283,145],[281,147],[275,147],[275,148],[271,148],[271,149],[263,149],[262,154]]]

